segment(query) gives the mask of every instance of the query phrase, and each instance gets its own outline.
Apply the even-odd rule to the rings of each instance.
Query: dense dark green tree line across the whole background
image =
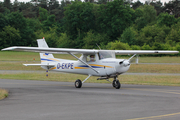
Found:
[[[180,1],[0,2],[0,49],[50,47],[180,51]]]

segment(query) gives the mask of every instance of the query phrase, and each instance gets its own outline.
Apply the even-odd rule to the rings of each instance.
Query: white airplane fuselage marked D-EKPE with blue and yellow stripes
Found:
[[[43,59],[44,60],[44,59]],[[76,73],[76,74],[85,74],[92,76],[113,76],[125,73],[128,71],[130,64],[120,65],[119,62],[123,59],[107,58],[98,60],[96,62],[87,62],[92,68],[98,71],[95,72],[89,66],[83,64],[82,62],[66,59],[56,59],[54,58],[51,63],[55,64],[54,67],[49,68],[49,70],[57,72],[66,72],[66,73]],[[42,64],[47,64],[50,62],[48,60],[41,61]],[[44,69],[48,69],[45,66],[42,66]]]

